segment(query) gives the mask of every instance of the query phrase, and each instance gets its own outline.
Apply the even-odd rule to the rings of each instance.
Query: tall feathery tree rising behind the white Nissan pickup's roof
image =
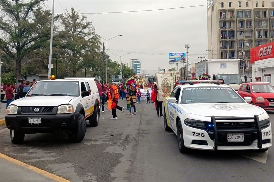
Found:
[[[94,71],[100,59],[100,36],[96,34],[86,16],[80,15],[73,8],[65,11],[58,18],[64,30],[58,32],[59,47],[63,50],[64,66],[76,76],[81,70]],[[88,70],[87,70],[88,69]]]

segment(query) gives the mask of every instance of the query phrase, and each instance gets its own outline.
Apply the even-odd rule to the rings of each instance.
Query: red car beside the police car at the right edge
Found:
[[[238,93],[242,98],[251,97],[251,104],[265,110],[274,110],[274,87],[269,82],[241,84]]]

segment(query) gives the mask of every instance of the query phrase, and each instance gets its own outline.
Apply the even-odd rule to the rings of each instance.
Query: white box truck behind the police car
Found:
[[[223,79],[225,84],[237,91],[243,83],[239,63],[240,59],[205,59],[196,63],[196,77],[207,73],[211,80]]]

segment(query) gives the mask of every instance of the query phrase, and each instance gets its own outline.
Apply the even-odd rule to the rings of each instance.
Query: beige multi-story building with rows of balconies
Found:
[[[208,58],[244,58],[274,38],[274,1],[207,0]],[[242,67],[242,63],[241,63]]]

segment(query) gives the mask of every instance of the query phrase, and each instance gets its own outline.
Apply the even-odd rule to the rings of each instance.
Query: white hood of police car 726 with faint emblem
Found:
[[[182,104],[192,114],[200,116],[252,116],[264,113],[260,107],[247,103]]]

